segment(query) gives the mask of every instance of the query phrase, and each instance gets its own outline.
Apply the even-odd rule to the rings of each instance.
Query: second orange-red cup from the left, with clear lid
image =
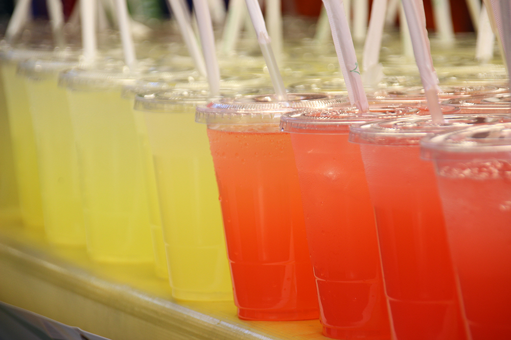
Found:
[[[302,110],[284,115],[290,133],[316,278],[323,334],[339,339],[389,339],[373,207],[351,124],[416,115],[412,107]]]

